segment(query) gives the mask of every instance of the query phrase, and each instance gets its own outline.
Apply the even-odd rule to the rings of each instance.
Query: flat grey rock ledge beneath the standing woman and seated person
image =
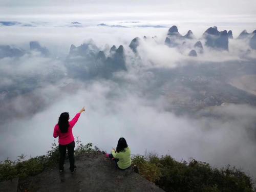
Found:
[[[28,191],[163,191],[133,170],[119,170],[113,160],[102,154],[87,154],[76,159],[77,171],[59,175],[58,169],[45,171],[30,178]]]

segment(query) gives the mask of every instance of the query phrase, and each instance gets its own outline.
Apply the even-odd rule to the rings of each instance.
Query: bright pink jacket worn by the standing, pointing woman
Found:
[[[67,145],[75,140],[72,129],[73,126],[76,124],[77,120],[80,117],[80,113],[77,113],[75,117],[69,122],[69,129],[67,133],[61,133],[59,129],[59,125],[56,124],[53,131],[53,137],[56,138],[59,136],[59,144],[61,145]]]

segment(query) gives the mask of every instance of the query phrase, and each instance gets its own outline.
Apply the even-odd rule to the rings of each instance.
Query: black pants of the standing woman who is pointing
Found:
[[[69,163],[70,163],[70,170],[73,171],[75,168],[75,159],[74,159],[74,149],[75,149],[75,141],[67,144],[61,145],[59,144],[59,170],[63,170],[63,165],[66,158],[66,151],[68,148],[68,155],[69,155]]]

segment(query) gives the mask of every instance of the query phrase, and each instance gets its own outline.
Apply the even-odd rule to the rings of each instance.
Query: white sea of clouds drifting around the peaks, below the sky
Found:
[[[60,113],[69,112],[72,118],[85,106],[86,112],[73,130],[83,143],[92,142],[109,151],[119,137],[124,137],[133,154],[147,151],[169,154],[177,160],[195,158],[217,167],[231,164],[255,176],[255,106],[227,104],[206,107],[198,116],[177,115],[167,110],[172,98],[158,89],[162,77],[152,72],[189,63],[207,65],[214,61],[228,65],[231,61],[255,59],[255,51],[244,57],[241,47],[247,50],[246,42],[230,40],[229,52],[205,49],[201,57],[191,58],[187,56],[188,50],[164,45],[168,28],[113,28],[96,24],[78,28],[1,27],[1,45],[28,50],[29,41],[37,40],[50,51],[49,57],[32,51],[19,58],[0,59],[0,88],[6,90],[0,94],[1,160],[16,159],[22,153],[32,157],[45,154],[51,143],[57,142],[53,127]],[[241,27],[229,25],[228,29],[242,31]],[[208,26],[203,27],[181,26],[181,32],[185,34],[191,29],[197,31],[199,38]],[[139,56],[135,55],[129,44],[134,37],[143,39],[144,35],[150,38],[141,41]],[[127,71],[115,72],[110,79],[71,78],[66,63],[70,45],[92,41],[106,54],[112,45],[123,45]]]

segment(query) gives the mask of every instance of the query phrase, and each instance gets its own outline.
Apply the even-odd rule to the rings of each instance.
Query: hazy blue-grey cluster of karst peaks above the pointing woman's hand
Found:
[[[123,46],[112,46],[106,57],[93,41],[76,47],[71,45],[66,57],[66,67],[72,77],[90,79],[93,77],[111,78],[113,72],[126,70]]]

